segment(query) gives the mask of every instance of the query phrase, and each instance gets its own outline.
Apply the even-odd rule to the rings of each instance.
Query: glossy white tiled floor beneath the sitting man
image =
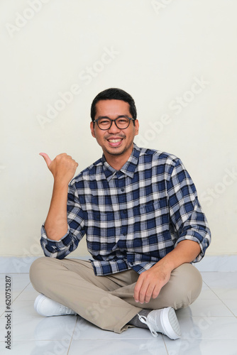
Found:
[[[182,339],[170,340],[147,329],[106,332],[81,317],[41,317],[33,309],[38,293],[28,273],[12,273],[11,351],[6,349],[5,274],[0,274],[0,354],[10,355],[236,355],[237,272],[202,273],[202,293],[177,311]]]

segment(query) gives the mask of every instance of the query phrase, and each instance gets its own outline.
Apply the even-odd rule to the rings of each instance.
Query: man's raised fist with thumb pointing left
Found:
[[[62,153],[51,160],[46,153],[40,153],[43,156],[50,172],[57,182],[63,182],[68,185],[75,175],[77,162],[70,155]]]

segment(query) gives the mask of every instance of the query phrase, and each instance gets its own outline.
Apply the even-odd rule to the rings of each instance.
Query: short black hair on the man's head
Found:
[[[101,100],[122,100],[122,101],[128,102],[129,111],[130,111],[133,119],[137,118],[137,111],[136,111],[135,102],[134,102],[133,98],[131,97],[131,95],[122,89],[111,87],[110,89],[106,89],[106,90],[100,92],[92,101],[91,117],[92,117],[93,122],[94,122],[94,117],[97,114],[96,104],[97,104],[97,102],[99,102]],[[134,124],[134,121],[133,121],[133,124]]]

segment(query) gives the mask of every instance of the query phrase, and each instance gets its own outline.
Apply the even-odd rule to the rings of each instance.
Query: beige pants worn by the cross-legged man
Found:
[[[38,258],[30,270],[31,283],[39,293],[70,307],[101,329],[116,333],[126,330],[127,323],[142,308],[187,307],[202,289],[199,271],[185,263],[172,271],[155,300],[140,304],[133,298],[138,276],[133,270],[96,276],[89,261],[67,258]]]

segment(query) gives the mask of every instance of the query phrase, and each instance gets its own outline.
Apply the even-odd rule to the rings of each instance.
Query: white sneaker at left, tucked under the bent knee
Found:
[[[51,300],[42,293],[36,297],[34,308],[39,315],[44,315],[45,317],[52,317],[54,315],[77,315],[74,310]]]

